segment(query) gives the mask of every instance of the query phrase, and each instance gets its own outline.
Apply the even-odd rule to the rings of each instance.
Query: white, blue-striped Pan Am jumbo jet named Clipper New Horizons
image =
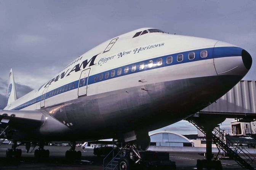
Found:
[[[3,134],[35,157],[49,157],[47,142],[114,138],[147,149],[148,132],[188,118],[237,84],[250,54],[218,40],[141,28],[99,44],[53,78],[17,99],[10,71]],[[31,147],[31,148],[30,148]],[[66,156],[78,155],[74,145]]]

